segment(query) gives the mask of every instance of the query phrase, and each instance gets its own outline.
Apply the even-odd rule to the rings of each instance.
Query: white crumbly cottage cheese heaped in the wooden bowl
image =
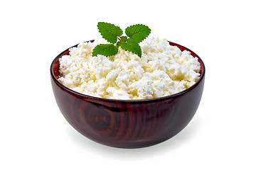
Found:
[[[142,57],[119,47],[117,55],[92,57],[105,40],[82,42],[60,58],[58,81],[80,94],[134,100],[176,94],[198,81],[201,64],[190,52],[169,45],[166,39],[140,42]]]

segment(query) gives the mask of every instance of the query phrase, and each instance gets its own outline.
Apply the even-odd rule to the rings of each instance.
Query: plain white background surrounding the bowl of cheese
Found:
[[[0,169],[256,169],[254,1],[1,1]],[[178,135],[117,149],[76,132],[60,113],[50,64],[98,38],[97,22],[143,23],[206,64],[201,104]]]

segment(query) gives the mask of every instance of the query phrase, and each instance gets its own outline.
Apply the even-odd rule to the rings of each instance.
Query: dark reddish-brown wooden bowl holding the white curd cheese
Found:
[[[169,43],[198,57],[186,47]],[[60,84],[58,59],[68,54],[68,49],[61,52],[50,65],[55,100],[75,130],[100,144],[139,148],[164,142],[188,125],[201,101],[206,69],[200,57],[200,79],[178,94],[143,100],[113,100],[80,94]]]

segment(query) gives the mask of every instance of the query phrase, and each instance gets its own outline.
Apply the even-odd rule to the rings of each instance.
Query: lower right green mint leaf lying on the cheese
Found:
[[[132,38],[128,38],[127,42],[117,42],[117,46],[121,46],[122,49],[133,52],[139,57],[142,57],[142,49],[140,48],[139,43]]]

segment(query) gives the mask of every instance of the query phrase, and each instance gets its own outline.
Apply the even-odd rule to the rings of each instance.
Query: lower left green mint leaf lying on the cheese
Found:
[[[118,47],[114,44],[100,44],[97,45],[92,51],[92,57],[97,55],[105,55],[110,57],[116,55],[118,52]]]

